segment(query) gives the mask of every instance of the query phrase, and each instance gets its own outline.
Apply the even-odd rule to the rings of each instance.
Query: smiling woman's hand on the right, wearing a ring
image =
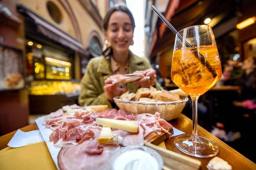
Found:
[[[135,71],[134,73],[142,73],[145,75],[142,79],[133,82],[136,85],[149,88],[150,86],[154,86],[157,82],[157,74],[153,68],[149,68],[144,71]]]

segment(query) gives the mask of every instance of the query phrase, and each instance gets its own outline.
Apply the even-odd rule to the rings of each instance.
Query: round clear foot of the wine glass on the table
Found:
[[[192,141],[191,135],[180,135],[174,141],[175,146],[191,156],[198,158],[208,158],[218,154],[218,146],[204,137],[198,136],[195,141]]]

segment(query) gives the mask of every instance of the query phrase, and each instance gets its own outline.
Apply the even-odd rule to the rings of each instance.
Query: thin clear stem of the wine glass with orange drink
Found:
[[[190,97],[192,99],[192,113],[193,113],[193,116],[192,116],[193,131],[192,131],[191,139],[193,141],[198,141],[199,137],[197,133],[197,124],[198,124],[197,106],[198,106],[199,95],[190,96]]]

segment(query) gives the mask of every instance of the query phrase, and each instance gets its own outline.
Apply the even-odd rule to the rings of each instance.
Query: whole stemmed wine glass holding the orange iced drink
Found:
[[[175,146],[191,156],[206,158],[218,154],[218,146],[198,136],[198,98],[221,78],[221,62],[212,28],[207,25],[190,26],[179,31],[175,38],[172,59],[172,81],[192,99],[192,135],[175,139]]]

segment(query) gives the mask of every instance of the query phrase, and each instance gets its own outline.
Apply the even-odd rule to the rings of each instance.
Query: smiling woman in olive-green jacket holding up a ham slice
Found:
[[[106,49],[103,56],[90,60],[87,72],[81,80],[79,104],[108,105],[112,108],[113,98],[126,91],[135,93],[138,88],[154,86],[161,89],[157,83],[156,71],[144,57],[137,57],[129,51],[133,45],[135,28],[134,17],[125,5],[110,8],[103,20]],[[144,78],[133,83],[112,84],[109,77],[113,74],[130,74],[141,72]]]

